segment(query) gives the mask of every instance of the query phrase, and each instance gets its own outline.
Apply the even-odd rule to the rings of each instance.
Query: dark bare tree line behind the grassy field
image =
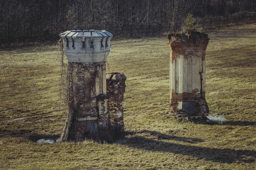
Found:
[[[0,42],[56,40],[74,29],[167,25],[186,15],[217,17],[256,11],[256,0],[0,0]]]

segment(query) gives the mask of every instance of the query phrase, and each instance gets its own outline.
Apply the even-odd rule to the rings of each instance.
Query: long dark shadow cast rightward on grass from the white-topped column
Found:
[[[154,131],[142,131],[139,133],[151,133],[160,136],[166,136],[167,140],[177,140],[182,142],[195,141],[203,142],[202,139],[197,138],[186,138],[178,136],[169,136]],[[128,134],[136,134],[136,132]],[[156,135],[156,136],[157,136]],[[173,138],[174,137],[174,138]],[[198,159],[206,159],[208,161],[221,162],[221,163],[252,163],[256,161],[255,150],[235,150],[235,149],[218,149],[209,147],[198,147],[186,144],[175,144],[171,142],[165,142],[157,139],[148,139],[144,136],[127,136],[118,142],[119,144],[127,145],[129,147],[139,148],[143,150],[149,150],[152,152],[163,152],[163,153],[175,153],[186,156],[192,156]],[[191,142],[189,142],[191,143]]]

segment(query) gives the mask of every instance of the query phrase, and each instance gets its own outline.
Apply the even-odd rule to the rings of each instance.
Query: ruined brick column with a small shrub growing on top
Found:
[[[169,34],[170,104],[169,112],[186,119],[206,119],[205,51],[208,34],[191,31]]]

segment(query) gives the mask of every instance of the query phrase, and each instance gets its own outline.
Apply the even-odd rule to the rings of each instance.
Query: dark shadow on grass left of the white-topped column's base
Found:
[[[24,138],[36,142],[39,139],[53,139],[56,141],[59,137],[59,135],[37,134],[31,130],[6,130],[0,128],[0,138]]]

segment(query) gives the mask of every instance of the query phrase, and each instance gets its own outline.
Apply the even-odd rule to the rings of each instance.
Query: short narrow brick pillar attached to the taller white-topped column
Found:
[[[125,74],[107,74],[107,95],[111,125],[116,137],[121,137],[125,131],[124,124],[124,93]]]

